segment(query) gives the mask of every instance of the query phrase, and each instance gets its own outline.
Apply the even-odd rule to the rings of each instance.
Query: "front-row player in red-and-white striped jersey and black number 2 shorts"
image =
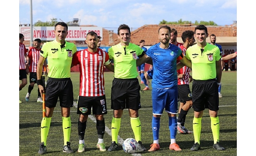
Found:
[[[72,66],[79,64],[80,89],[77,106],[79,146],[78,152],[84,152],[84,133],[88,115],[95,115],[96,129],[98,133],[97,148],[106,151],[103,143],[105,132],[105,120],[107,104],[104,89],[104,66],[114,72],[114,67],[109,60],[108,53],[97,48],[98,37],[94,31],[86,35],[88,49],[77,51],[72,59]],[[90,140],[91,141],[91,140]]]

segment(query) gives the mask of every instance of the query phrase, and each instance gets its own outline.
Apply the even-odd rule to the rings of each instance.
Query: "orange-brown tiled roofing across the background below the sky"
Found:
[[[95,25],[81,25],[81,26],[95,26]],[[131,43],[139,45],[141,39],[145,40],[145,46],[152,46],[159,42],[158,39],[158,29],[161,25],[143,25],[140,28],[131,32]],[[197,25],[168,25],[171,28],[175,28],[178,31],[178,38],[185,30],[195,30]],[[206,26],[209,36],[215,34],[216,37],[236,37],[237,27],[235,25],[225,25],[225,26]],[[208,37],[209,38],[209,37]],[[85,45],[85,41],[70,41],[75,43],[77,46]],[[120,40],[116,33],[103,28],[103,39],[101,41],[101,46],[113,46],[119,43]],[[26,46],[29,45],[30,41],[23,42]]]

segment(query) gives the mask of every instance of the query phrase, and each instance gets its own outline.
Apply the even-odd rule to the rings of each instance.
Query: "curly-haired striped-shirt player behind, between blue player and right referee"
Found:
[[[188,47],[193,46],[195,42],[194,31],[186,30],[181,35],[183,45],[179,46],[183,55],[186,55]],[[177,63],[179,61],[177,60]],[[187,112],[192,107],[192,94],[189,88],[189,83],[193,81],[192,76],[189,74],[191,68],[184,66],[177,70],[178,75],[178,97],[179,97],[179,115],[177,118],[177,131],[181,134],[191,134],[192,131],[185,128],[185,119]]]

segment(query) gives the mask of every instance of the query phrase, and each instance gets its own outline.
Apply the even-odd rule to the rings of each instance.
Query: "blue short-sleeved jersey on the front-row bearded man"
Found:
[[[171,88],[178,84],[177,59],[183,58],[182,51],[176,45],[169,44],[168,49],[160,48],[160,42],[146,52],[153,60],[154,74],[152,88]]]

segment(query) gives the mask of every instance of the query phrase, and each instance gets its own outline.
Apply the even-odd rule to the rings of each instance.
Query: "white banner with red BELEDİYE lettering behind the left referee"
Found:
[[[66,40],[85,41],[86,34],[90,31],[94,31],[103,39],[102,27],[69,26]],[[20,33],[24,35],[25,41],[30,40],[30,26],[20,26]],[[42,41],[53,41],[55,39],[54,26],[34,26],[33,41],[36,38],[40,38]]]

